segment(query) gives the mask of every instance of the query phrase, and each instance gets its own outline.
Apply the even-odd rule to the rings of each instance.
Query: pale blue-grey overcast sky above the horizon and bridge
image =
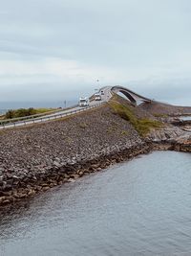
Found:
[[[1,102],[62,101],[122,84],[191,105],[190,0],[0,4]]]

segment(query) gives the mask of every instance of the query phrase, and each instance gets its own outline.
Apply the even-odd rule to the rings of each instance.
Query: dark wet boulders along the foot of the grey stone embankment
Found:
[[[31,198],[34,195],[45,192],[54,186],[62,185],[66,182],[74,182],[75,179],[92,173],[100,172],[116,163],[132,159],[139,154],[149,153],[153,150],[152,145],[147,143],[133,147],[131,149],[112,153],[110,155],[100,156],[87,162],[76,163],[74,165],[66,165],[64,167],[54,167],[50,170],[50,174],[39,174],[36,179],[18,180],[15,176],[7,177],[7,187],[0,192],[0,205],[6,205],[20,201],[24,198]]]

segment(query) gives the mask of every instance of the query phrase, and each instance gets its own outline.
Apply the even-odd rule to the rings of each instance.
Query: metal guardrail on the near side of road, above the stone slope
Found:
[[[62,117],[70,116],[70,115],[73,115],[73,114],[76,114],[76,113],[84,112],[88,109],[92,109],[92,108],[95,108],[97,106],[104,105],[104,104],[106,104],[106,102],[102,102],[102,103],[99,103],[99,104],[96,104],[96,105],[91,105],[91,106],[87,106],[87,107],[83,107],[83,108],[79,108],[79,109],[74,109],[74,110],[71,110],[71,111],[67,111],[66,113],[58,113],[58,114],[55,114],[53,116],[47,116],[47,117],[43,116],[43,117],[40,117],[40,118],[36,117],[36,118],[31,118],[31,119],[20,120],[20,121],[17,121],[17,122],[4,123],[4,124],[0,125],[0,129],[17,128],[17,127],[22,127],[22,126],[47,122],[47,121],[59,119],[59,118],[62,118]]]

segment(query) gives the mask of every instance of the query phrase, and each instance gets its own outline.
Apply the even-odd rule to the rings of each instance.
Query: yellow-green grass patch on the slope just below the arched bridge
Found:
[[[140,136],[146,136],[153,128],[162,127],[162,124],[159,121],[151,120],[149,118],[139,119],[130,106],[121,105],[116,101],[111,101],[110,106],[122,119],[129,121],[133,127],[136,128]]]

